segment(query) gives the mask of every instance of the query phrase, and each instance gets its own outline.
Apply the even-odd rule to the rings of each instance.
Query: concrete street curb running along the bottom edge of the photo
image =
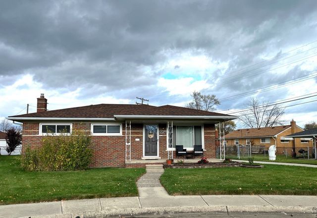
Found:
[[[286,214],[317,214],[315,207],[272,207],[272,206],[204,206],[204,207],[164,207],[144,209],[119,209],[100,212],[84,212],[64,215],[34,216],[32,218],[111,218],[133,217],[140,215],[170,215],[190,213],[286,213]]]

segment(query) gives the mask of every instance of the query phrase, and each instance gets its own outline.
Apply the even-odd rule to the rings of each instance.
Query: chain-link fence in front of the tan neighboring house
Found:
[[[292,158],[292,150],[290,147],[277,147],[276,159]],[[298,159],[315,159],[314,147],[296,147],[296,158]],[[230,159],[247,160],[249,157],[254,157],[256,160],[268,160],[268,148],[262,145],[252,146],[226,146],[225,157]],[[220,158],[220,147],[216,149],[216,158]]]

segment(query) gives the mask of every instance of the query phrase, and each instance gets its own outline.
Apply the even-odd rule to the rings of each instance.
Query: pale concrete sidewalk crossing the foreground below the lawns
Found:
[[[98,198],[85,200],[57,201],[35,204],[0,206],[1,218],[19,217],[58,217],[80,216],[109,217],[142,213],[183,213],[216,211],[219,213],[250,212],[287,212],[317,213],[317,196],[281,195],[197,195]],[[100,216],[103,215],[103,216]]]

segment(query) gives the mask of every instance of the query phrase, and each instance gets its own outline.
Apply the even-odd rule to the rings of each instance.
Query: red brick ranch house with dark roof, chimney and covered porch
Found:
[[[92,167],[164,163],[168,155],[176,157],[175,145],[187,150],[202,145],[204,156],[215,158],[215,123],[237,118],[170,105],[100,104],[47,110],[44,94],[37,100],[36,113],[7,117],[23,123],[23,145],[41,146],[48,129],[56,134],[63,129],[86,130],[92,135]]]

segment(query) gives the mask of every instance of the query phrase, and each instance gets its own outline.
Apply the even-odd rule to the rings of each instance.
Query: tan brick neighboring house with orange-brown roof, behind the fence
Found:
[[[262,145],[266,149],[270,145],[276,145],[276,147],[293,147],[293,138],[287,135],[302,132],[304,129],[296,125],[294,120],[291,121],[291,125],[261,127],[261,128],[247,128],[238,129],[230,132],[224,136],[226,145]],[[313,142],[311,138],[295,138],[296,147],[312,147]]]

